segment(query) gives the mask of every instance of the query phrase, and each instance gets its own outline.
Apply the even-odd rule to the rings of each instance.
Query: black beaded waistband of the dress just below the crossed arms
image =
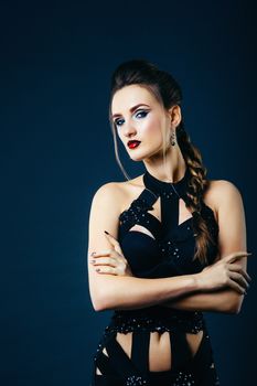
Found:
[[[202,312],[174,310],[154,305],[137,310],[116,310],[111,317],[108,332],[128,333],[132,331],[183,331],[197,333],[205,329]]]

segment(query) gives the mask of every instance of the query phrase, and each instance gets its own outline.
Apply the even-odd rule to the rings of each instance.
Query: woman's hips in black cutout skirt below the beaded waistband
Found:
[[[206,329],[104,334],[93,377],[94,385],[219,385]]]

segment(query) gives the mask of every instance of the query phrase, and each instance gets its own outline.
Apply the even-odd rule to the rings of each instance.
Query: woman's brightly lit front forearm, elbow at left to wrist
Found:
[[[195,275],[160,279],[105,275],[94,283],[90,294],[96,311],[141,309],[200,290]]]

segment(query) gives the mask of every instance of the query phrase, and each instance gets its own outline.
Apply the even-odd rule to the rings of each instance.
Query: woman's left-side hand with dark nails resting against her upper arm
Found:
[[[98,274],[108,274],[116,276],[133,276],[127,259],[120,248],[119,242],[110,234],[105,234],[113,248],[101,250],[98,254],[93,253],[90,262]],[[107,256],[107,257],[103,257]]]

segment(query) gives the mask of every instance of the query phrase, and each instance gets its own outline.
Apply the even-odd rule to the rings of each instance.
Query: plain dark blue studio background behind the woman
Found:
[[[208,176],[242,192],[253,285],[238,315],[206,320],[222,385],[255,383],[254,21],[249,1],[1,1],[2,385],[89,385],[110,313],[94,312],[88,296],[88,214],[101,184],[124,180],[109,78],[136,57],[179,81]],[[120,152],[129,174],[140,174]]]

